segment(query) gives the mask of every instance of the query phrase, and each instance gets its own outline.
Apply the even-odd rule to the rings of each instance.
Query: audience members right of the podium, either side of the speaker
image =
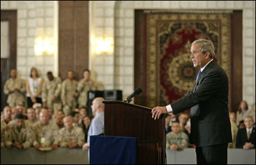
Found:
[[[171,119],[166,115],[166,148],[170,150],[183,150],[185,147],[195,147],[191,144],[191,123],[187,113],[181,113],[176,118]],[[246,101],[242,100],[237,109],[237,113],[229,114],[232,143],[228,148],[255,148],[255,104],[252,109],[248,109]],[[179,123],[179,124],[178,124]]]

